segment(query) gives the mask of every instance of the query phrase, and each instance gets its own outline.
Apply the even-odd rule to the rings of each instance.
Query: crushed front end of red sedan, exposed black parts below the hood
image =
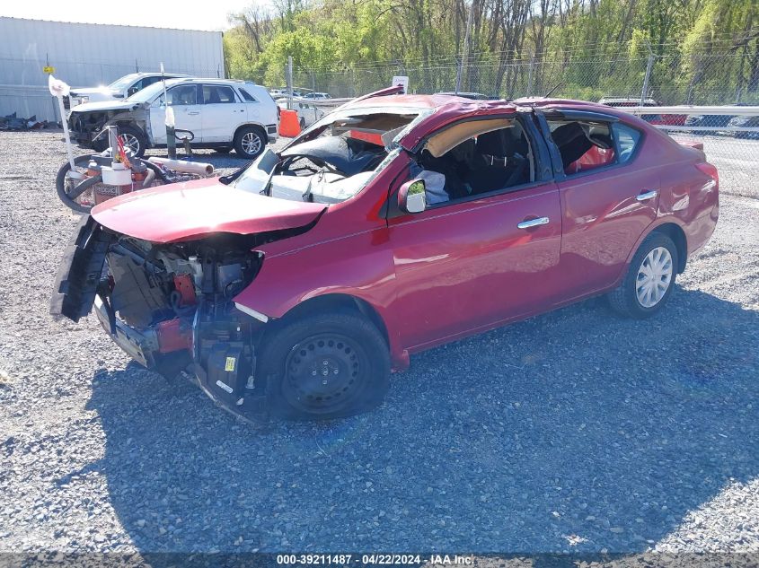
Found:
[[[264,324],[234,307],[261,258],[256,236],[215,235],[152,244],[85,216],[57,275],[50,312],[78,321],[94,307],[130,357],[167,378],[188,372],[235,415],[266,419],[256,384]]]

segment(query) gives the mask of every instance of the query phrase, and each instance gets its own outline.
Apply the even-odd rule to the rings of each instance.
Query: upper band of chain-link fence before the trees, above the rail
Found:
[[[617,59],[568,56],[515,62],[499,61],[496,55],[474,55],[465,64],[457,57],[439,57],[419,64],[398,61],[329,70],[296,68],[293,82],[296,88],[352,97],[389,85],[394,75],[407,75],[410,92],[452,92],[461,67],[460,91],[486,98],[541,96],[555,89],[554,96],[572,99],[640,99],[645,83],[646,97],[662,104],[759,104],[759,77],[752,83],[742,66],[745,58],[731,54]]]

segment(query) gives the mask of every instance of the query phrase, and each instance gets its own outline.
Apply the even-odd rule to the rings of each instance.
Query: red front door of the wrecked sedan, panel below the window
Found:
[[[401,340],[411,350],[557,301],[561,211],[552,179],[428,205],[388,224]]]

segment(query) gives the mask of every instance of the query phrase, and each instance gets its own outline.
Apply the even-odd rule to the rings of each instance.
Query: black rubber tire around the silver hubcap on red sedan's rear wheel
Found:
[[[649,253],[654,249],[660,248],[666,249],[669,252],[669,262],[672,265],[672,272],[669,276],[669,281],[666,284],[666,291],[664,291],[658,301],[653,305],[644,305],[640,301],[638,293],[640,271],[646,258],[649,256]],[[640,247],[631,260],[627,274],[624,275],[624,278],[622,279],[622,284],[607,294],[609,305],[614,311],[628,318],[644,319],[654,315],[658,310],[661,310],[664,307],[666,301],[669,300],[669,296],[672,295],[672,291],[675,289],[677,267],[679,266],[678,263],[679,258],[677,247],[675,247],[675,243],[672,239],[662,232],[652,232],[640,243]],[[645,278],[645,275],[643,277]],[[663,283],[664,276],[659,276],[658,280]],[[642,286],[640,287],[642,290]],[[653,299],[650,299],[649,301],[653,301]]]

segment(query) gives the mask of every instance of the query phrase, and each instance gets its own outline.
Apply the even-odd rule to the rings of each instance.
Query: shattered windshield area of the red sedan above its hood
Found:
[[[399,149],[397,141],[430,109],[378,107],[333,112],[276,154],[262,153],[234,181],[270,197],[340,203],[357,195]]]

